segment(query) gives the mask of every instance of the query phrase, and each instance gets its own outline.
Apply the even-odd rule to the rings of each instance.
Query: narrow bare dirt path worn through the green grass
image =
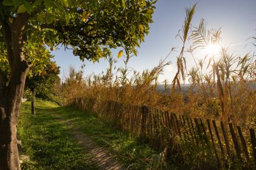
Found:
[[[108,153],[108,151],[102,147],[97,146],[90,137],[83,132],[75,129],[73,123],[65,120],[60,115],[54,114],[55,117],[59,118],[62,123],[66,124],[73,134],[74,140],[79,143],[79,146],[84,149],[85,154],[91,155],[90,160],[93,161],[99,169],[109,170],[125,170],[123,165],[118,163],[115,158]]]

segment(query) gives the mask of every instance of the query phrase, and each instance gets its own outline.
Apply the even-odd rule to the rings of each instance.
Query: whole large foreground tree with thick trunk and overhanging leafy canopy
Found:
[[[0,169],[20,169],[16,126],[31,63],[27,42],[72,48],[81,60],[98,61],[110,48],[127,55],[149,32],[153,0],[4,0],[0,1],[0,39],[10,73],[0,72]],[[36,59],[40,58],[37,56]],[[4,61],[6,62],[6,61]],[[1,65],[1,64],[0,64]]]

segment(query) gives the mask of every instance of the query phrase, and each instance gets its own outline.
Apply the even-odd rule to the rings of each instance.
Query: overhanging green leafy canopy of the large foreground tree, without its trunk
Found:
[[[136,47],[149,33],[156,1],[3,1],[2,18],[10,25],[19,13],[29,14],[24,40],[48,46],[72,47],[81,60],[98,61],[110,49],[123,47],[137,54]]]

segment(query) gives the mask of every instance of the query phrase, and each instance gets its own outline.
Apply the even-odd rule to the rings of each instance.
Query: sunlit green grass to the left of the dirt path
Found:
[[[48,101],[38,100],[37,115],[30,114],[30,103],[21,106],[18,138],[22,169],[97,169],[77,143],[72,140],[65,124],[52,114],[59,107]],[[29,160],[22,155],[29,157]]]

